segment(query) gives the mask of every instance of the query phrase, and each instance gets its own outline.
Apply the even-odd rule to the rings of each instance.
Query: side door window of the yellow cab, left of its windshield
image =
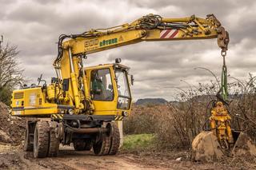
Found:
[[[90,94],[94,101],[113,101],[110,69],[95,69],[90,75]]]

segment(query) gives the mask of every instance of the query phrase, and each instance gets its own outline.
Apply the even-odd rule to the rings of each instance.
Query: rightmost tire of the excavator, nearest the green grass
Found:
[[[109,155],[115,155],[118,152],[119,146],[120,146],[120,133],[118,126],[112,122],[111,123],[111,136],[110,136],[110,150]]]

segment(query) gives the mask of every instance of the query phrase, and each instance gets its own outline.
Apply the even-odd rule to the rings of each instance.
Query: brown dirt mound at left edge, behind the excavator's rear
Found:
[[[25,119],[12,117],[6,105],[0,102],[0,143],[18,145],[25,133]]]

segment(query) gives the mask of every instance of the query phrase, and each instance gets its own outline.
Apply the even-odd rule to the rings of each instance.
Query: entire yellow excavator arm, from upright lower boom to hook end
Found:
[[[206,18],[197,18],[194,15],[188,18],[162,18],[159,15],[148,14],[130,24],[108,29],[89,30],[82,34],[61,35],[54,68],[61,80],[70,78],[72,87],[70,93],[72,93],[75,108],[81,110],[85,108],[81,101],[85,99],[88,101],[87,103],[91,103],[90,91],[86,87],[88,85],[86,75],[82,76],[83,80],[81,81],[84,89],[78,88],[82,57],[86,57],[87,54],[143,41],[160,42],[209,38],[217,38],[222,55],[226,55],[229,35],[213,14],[207,15]]]

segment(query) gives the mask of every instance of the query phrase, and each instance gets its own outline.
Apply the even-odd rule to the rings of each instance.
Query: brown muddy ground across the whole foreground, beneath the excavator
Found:
[[[186,159],[187,152],[159,154],[95,156],[92,151],[74,151],[73,147],[61,147],[58,157],[34,159],[32,152],[0,144],[0,169],[256,169],[256,164],[191,162]],[[182,160],[177,160],[177,157]]]

